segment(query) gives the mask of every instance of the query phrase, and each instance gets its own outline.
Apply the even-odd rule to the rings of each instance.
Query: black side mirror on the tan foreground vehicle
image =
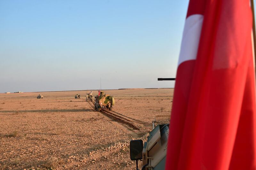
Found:
[[[130,158],[131,160],[142,159],[143,141],[132,140],[130,141]]]

